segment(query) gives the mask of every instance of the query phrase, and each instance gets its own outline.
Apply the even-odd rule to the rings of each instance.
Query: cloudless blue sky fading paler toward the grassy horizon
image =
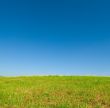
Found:
[[[0,1],[0,75],[110,75],[109,0]]]

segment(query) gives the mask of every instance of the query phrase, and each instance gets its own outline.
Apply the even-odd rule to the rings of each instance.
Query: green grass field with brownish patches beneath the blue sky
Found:
[[[110,77],[0,77],[0,108],[110,108]]]

